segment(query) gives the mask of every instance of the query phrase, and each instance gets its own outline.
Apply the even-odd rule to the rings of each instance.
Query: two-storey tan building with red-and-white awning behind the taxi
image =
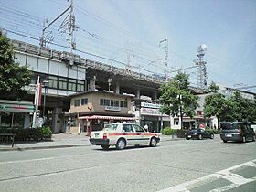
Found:
[[[107,123],[135,121],[133,96],[112,91],[85,91],[70,96],[67,132],[98,131]]]

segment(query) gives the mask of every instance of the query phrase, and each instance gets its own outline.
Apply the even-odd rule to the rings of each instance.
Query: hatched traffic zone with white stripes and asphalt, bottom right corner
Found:
[[[256,181],[256,159],[159,192],[222,192]],[[256,187],[255,187],[256,188]],[[256,189],[255,189],[256,191]]]

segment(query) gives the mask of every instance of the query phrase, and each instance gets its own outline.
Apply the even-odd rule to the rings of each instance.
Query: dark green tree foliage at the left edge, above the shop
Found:
[[[0,30],[0,98],[21,99],[27,94],[23,89],[30,83],[32,73],[15,62],[14,50]]]

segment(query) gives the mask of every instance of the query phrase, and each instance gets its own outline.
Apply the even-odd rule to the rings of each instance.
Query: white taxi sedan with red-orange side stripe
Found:
[[[104,150],[110,146],[124,149],[131,145],[149,144],[155,147],[160,141],[160,133],[149,133],[136,123],[111,123],[102,131],[91,132],[90,142],[101,145]]]

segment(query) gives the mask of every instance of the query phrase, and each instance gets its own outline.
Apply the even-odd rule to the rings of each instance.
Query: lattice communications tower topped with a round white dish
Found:
[[[197,86],[203,90],[207,89],[207,61],[204,60],[206,51],[207,46],[205,44],[200,45],[197,48],[197,59],[194,60],[195,64],[198,66]]]

